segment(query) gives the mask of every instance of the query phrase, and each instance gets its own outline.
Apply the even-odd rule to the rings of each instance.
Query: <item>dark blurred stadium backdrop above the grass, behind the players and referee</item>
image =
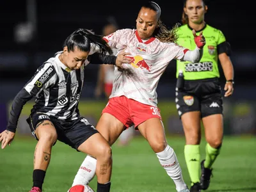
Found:
[[[156,1],[161,19],[169,28],[180,22],[183,1]],[[102,33],[107,18],[114,17],[119,28],[135,28],[143,1],[1,1],[0,3],[0,100],[6,104],[33,76],[36,68],[61,51],[62,44],[77,28]],[[256,47],[255,13],[249,1],[207,1],[205,21],[220,29],[232,47],[235,92],[228,104],[246,106],[246,115],[255,123]],[[97,65],[86,67],[82,99],[93,100]],[[174,101],[175,62],[166,68],[157,93],[159,100]],[[222,88],[225,78],[221,70]],[[103,97],[102,97],[103,98]],[[240,111],[240,109],[237,109]],[[254,129],[254,128],[253,128]]]

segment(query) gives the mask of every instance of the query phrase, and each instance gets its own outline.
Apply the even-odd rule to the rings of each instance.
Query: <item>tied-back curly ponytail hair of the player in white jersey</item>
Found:
[[[177,28],[179,27],[179,24],[177,23],[172,29],[168,29],[160,19],[160,6],[153,1],[148,1],[148,3],[145,3],[142,7],[149,8],[157,13],[157,28],[155,29],[153,35],[161,42],[176,42],[178,38]]]

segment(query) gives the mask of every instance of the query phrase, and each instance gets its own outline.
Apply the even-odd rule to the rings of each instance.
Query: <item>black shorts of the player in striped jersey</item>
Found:
[[[27,122],[36,140],[38,140],[35,134],[36,125],[44,120],[50,120],[52,122],[58,134],[59,141],[70,145],[70,147],[76,150],[84,141],[90,138],[90,136],[98,132],[83,116],[79,117],[77,120],[68,121],[58,120],[44,113],[31,113]]]

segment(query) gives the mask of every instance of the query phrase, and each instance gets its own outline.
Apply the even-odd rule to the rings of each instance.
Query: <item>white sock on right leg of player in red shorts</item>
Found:
[[[186,189],[187,185],[183,180],[180,164],[172,147],[167,145],[162,152],[156,153],[156,156],[158,157],[161,166],[166,170],[166,173],[174,181],[176,190],[182,191],[183,189]]]

